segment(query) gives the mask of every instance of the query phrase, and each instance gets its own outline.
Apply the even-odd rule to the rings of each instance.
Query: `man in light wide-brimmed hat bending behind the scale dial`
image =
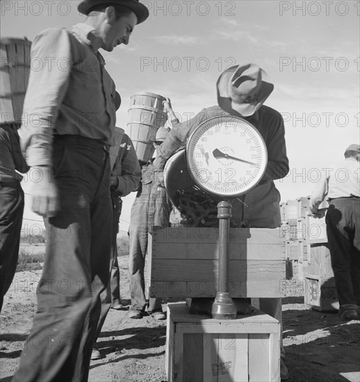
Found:
[[[236,65],[225,70],[216,84],[218,106],[205,108],[190,121],[174,126],[161,144],[154,165],[159,172],[163,171],[165,161],[207,119],[222,115],[243,117],[262,135],[268,149],[268,165],[261,181],[252,190],[231,202],[231,214],[243,226],[276,228],[281,225],[281,217],[280,194],[275,188],[274,180],[284,178],[289,167],[284,120],[276,110],[263,105],[274,89],[274,85],[263,81],[263,73],[253,63]],[[281,322],[281,299],[260,299],[260,309]],[[281,356],[284,357],[282,343]],[[281,361],[281,379],[287,378],[288,371]]]

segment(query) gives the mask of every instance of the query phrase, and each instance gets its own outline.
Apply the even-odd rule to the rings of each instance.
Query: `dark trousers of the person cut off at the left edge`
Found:
[[[19,181],[0,182],[0,312],[19,256],[24,192]]]

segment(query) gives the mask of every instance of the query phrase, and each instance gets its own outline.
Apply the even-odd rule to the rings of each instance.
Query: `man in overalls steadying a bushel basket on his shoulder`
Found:
[[[170,115],[171,104],[164,110]],[[165,126],[158,128],[153,142],[156,151],[169,131],[170,128]],[[154,178],[154,176],[158,176],[158,173],[154,173],[153,161],[154,158],[147,163],[140,163],[142,172],[140,189],[131,207],[129,225],[131,307],[129,317],[132,319],[141,319],[147,314],[152,315],[154,319],[165,319],[161,299],[149,297],[147,305],[145,297],[144,268],[148,234],[152,233],[153,226],[160,228],[169,226],[170,217],[170,204],[167,201],[166,190]],[[162,176],[162,173],[160,175]]]

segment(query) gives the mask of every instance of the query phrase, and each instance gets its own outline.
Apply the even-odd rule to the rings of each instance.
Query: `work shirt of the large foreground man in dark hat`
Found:
[[[94,30],[76,24],[49,28],[31,45],[31,72],[20,130],[30,166],[51,165],[54,134],[81,135],[113,144],[115,84],[92,50]],[[38,63],[38,67],[35,66]]]

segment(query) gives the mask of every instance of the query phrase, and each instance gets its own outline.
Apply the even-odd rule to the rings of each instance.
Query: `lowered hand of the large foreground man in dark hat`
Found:
[[[31,209],[43,217],[55,216],[60,208],[58,187],[54,181],[51,167],[31,167],[38,171],[39,179],[31,188]]]

